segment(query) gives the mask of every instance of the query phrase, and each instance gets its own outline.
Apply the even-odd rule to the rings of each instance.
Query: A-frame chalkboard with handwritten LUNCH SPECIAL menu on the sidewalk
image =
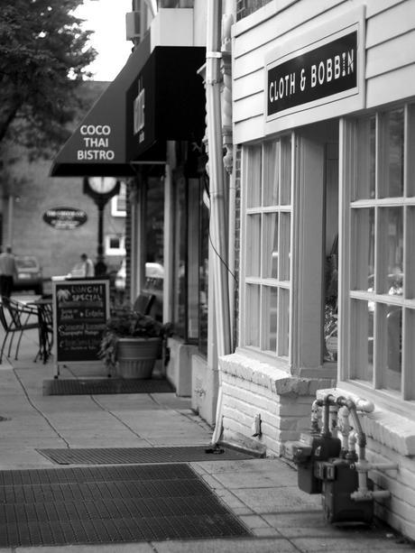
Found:
[[[108,318],[109,281],[53,282],[56,363],[98,361]]]

